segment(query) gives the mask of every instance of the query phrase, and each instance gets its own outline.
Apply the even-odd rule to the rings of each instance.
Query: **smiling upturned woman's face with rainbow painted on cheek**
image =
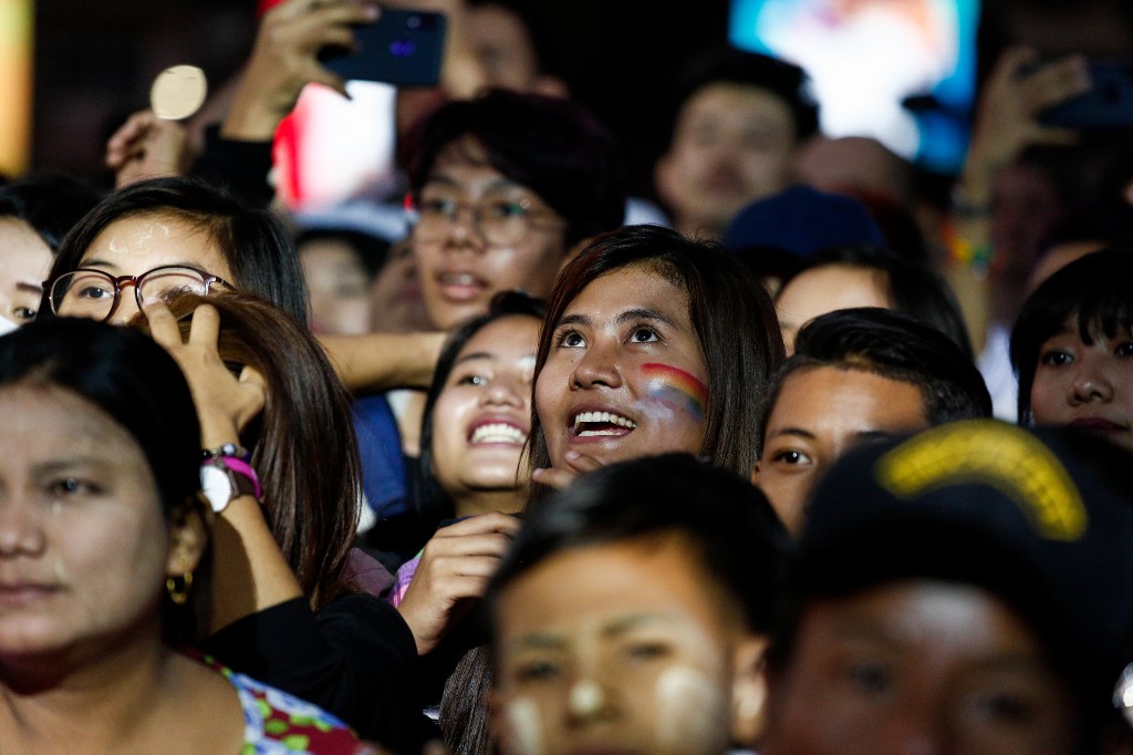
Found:
[[[707,382],[684,289],[640,265],[595,279],[554,323],[535,382],[552,466],[699,453]]]

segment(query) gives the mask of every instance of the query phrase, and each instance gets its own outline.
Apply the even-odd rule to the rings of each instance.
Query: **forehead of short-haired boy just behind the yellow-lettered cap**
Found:
[[[767,432],[790,426],[821,436],[927,425],[925,399],[913,383],[863,370],[810,367],[786,378],[768,417]]]

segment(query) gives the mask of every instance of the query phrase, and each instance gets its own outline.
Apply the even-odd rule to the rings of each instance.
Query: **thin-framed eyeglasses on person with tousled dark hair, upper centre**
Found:
[[[426,244],[444,240],[468,210],[472,228],[492,246],[519,244],[533,228],[561,228],[565,221],[553,210],[537,207],[527,197],[485,197],[460,202],[451,197],[421,197],[414,212],[414,238]]]

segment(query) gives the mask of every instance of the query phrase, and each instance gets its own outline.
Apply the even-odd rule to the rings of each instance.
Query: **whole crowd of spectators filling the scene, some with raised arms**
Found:
[[[382,222],[271,180],[350,0],[267,10],[203,142],[0,185],[0,752],[1133,752],[1133,166],[1040,118],[1081,59],[1000,57],[939,204],[707,51],[650,206],[514,8],[440,6]]]

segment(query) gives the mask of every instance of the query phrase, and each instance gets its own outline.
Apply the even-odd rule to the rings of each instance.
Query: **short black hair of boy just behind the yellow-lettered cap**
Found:
[[[860,370],[911,383],[920,391],[930,425],[991,416],[983,376],[952,339],[902,312],[857,307],[828,312],[799,331],[794,355],[780,367],[767,393],[760,439],[787,379],[813,367]]]

